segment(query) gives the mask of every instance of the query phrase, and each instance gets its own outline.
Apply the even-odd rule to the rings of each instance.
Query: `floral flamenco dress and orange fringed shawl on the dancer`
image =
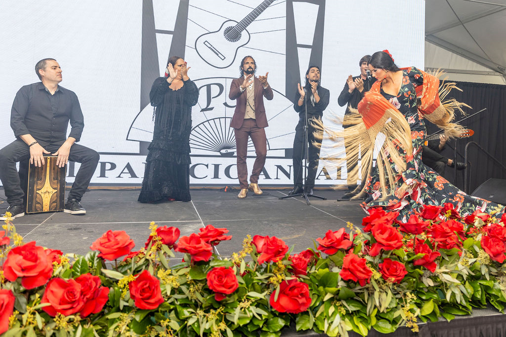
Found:
[[[454,83],[439,87],[439,79],[433,75],[414,67],[402,71],[402,84],[396,96],[384,92],[377,81],[358,106],[361,123],[355,126],[355,131],[365,129],[362,135],[366,134],[369,141],[362,167],[367,167],[367,161],[372,163],[374,148],[377,154],[376,166],[370,165],[367,172],[364,191],[368,197],[361,206],[365,210],[381,207],[398,211],[403,222],[409,215],[420,212],[423,205],[446,203],[452,204],[461,215],[479,209],[500,217],[504,206],[467,195],[421,161],[426,136],[424,119],[450,135],[462,130],[458,124],[450,123],[453,110],[460,110],[461,104],[453,99],[441,104],[438,97],[441,91],[444,98]],[[421,101],[419,107],[417,97]]]

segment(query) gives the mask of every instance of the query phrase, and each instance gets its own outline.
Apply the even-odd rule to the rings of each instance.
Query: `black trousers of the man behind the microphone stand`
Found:
[[[318,131],[320,139],[314,136],[315,128],[308,123],[308,171],[306,176],[306,187],[313,188],[315,185],[316,172],[318,170],[318,161],[320,158],[320,148],[313,145],[313,141],[321,142],[323,131]],[[306,155],[306,144],[304,143],[304,119],[299,120],[295,128],[295,138],[293,139],[293,185],[302,187],[302,161]]]

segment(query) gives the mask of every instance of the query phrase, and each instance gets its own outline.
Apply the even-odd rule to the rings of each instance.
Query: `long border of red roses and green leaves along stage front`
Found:
[[[495,214],[497,215],[497,214]],[[362,229],[328,230],[292,254],[277,237],[249,235],[231,258],[208,225],[180,236],[151,223],[144,248],[107,231],[86,256],[23,243],[0,231],[3,336],[279,336],[283,327],[329,336],[382,333],[506,305],[506,216],[461,217],[425,206],[406,223],[371,209]],[[184,254],[170,265],[174,251]]]

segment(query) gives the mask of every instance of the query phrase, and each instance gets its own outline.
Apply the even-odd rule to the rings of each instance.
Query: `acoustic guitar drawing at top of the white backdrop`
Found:
[[[225,21],[219,30],[200,35],[195,41],[197,54],[215,68],[227,68],[235,60],[237,50],[249,42],[249,26],[275,0],[265,0],[240,22]]]

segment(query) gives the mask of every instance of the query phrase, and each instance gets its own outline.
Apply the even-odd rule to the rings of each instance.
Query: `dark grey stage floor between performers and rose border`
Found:
[[[366,215],[360,201],[336,201],[344,190],[315,190],[315,194],[328,200],[311,198],[311,206],[301,197],[278,199],[289,190],[264,189],[262,196],[248,192],[248,197],[240,200],[237,191],[192,189],[191,202],[140,204],[138,190],[92,189],[81,201],[87,210],[84,216],[38,213],[15,219],[14,224],[25,242],[35,240],[37,245],[77,254],[88,252],[90,245],[108,229],[126,231],[138,250],[144,247],[149,235],[150,221],[160,226],[176,226],[181,235],[212,224],[229,229],[232,239],[222,242],[217,249],[220,255],[230,256],[241,250],[246,234],[277,236],[288,246],[295,245],[294,253],[301,252],[313,247],[313,239],[323,237],[328,229],[337,230],[346,226],[347,221],[360,225]],[[4,197],[1,189],[0,198]],[[0,204],[2,213],[7,206]]]

